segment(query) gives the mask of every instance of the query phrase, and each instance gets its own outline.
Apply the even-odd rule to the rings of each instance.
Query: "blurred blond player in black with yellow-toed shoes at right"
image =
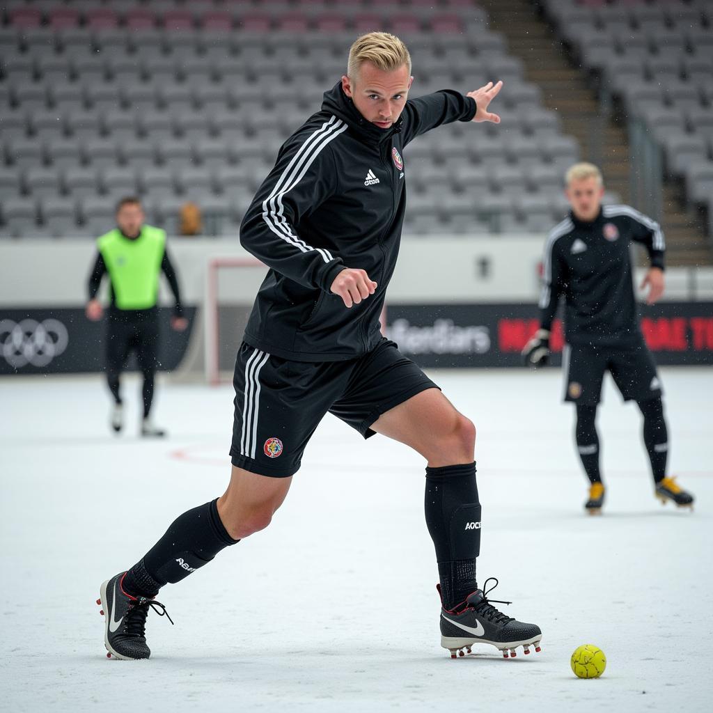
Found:
[[[599,469],[595,426],[605,371],[625,401],[636,401],[644,417],[644,443],[655,494],[662,502],[691,506],[693,497],[666,476],[668,431],[656,364],[639,327],[632,284],[631,242],[645,245],[651,260],[642,289],[647,303],[664,293],[664,236],[659,224],[628,205],[604,205],[600,170],[578,163],[565,177],[570,215],[550,232],[545,245],[540,329],[525,345],[525,363],[537,367],[550,354],[550,329],[565,297],[565,401],[577,409],[577,449],[590,480],[585,509],[599,514],[605,488]]]

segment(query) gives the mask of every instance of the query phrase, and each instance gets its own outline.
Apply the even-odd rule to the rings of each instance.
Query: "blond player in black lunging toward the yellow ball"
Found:
[[[235,366],[230,484],[103,583],[110,655],[148,658],[148,609],[165,612],[153,598],[158,590],[270,524],[328,412],[364,438],[383,434],[426,459],[441,645],[453,656],[476,642],[505,657],[518,646],[539,650],[539,627],[499,612],[487,582],[476,583],[475,428],[379,329],[406,208],[404,148],[444,123],[500,121],[488,111],[499,82],[467,96],[448,90],[409,100],[412,80],[401,40],[380,32],[357,39],[347,74],[282,145],[247,210],[240,240],[270,271]]]

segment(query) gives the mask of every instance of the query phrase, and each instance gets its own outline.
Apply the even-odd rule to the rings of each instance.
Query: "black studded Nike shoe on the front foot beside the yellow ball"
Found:
[[[495,584],[486,590],[488,582]],[[534,624],[518,622],[493,607],[486,596],[498,586],[495,577],[488,578],[483,590],[476,589],[464,602],[448,611],[441,608],[441,646],[451,652],[451,658],[463,656],[463,650],[471,653],[473,644],[490,644],[503,652],[503,658],[515,658],[515,649],[523,647],[525,654],[530,646],[541,651],[542,632]],[[440,593],[440,587],[438,592]],[[498,600],[492,600],[498,601]],[[511,602],[498,602],[510,604]],[[508,654],[509,652],[509,654]]]

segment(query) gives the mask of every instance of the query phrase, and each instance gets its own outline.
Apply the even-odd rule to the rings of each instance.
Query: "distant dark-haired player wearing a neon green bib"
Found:
[[[89,301],[86,316],[93,322],[103,317],[104,309],[96,295],[103,276],[111,282],[111,306],[106,334],[106,380],[114,402],[111,428],[123,428],[124,414],[119,375],[132,350],[143,374],[142,436],[164,436],[150,417],[153,381],[158,366],[158,276],[168,279],[175,298],[171,327],[178,332],[188,327],[180,304],[175,270],[166,251],[166,234],[160,228],[145,225],[138,198],[122,198],[116,207],[116,227],[97,240],[98,253],[89,277]]]

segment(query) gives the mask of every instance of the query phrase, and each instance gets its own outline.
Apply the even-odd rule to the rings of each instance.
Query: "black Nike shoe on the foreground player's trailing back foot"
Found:
[[[120,573],[101,585],[101,597],[96,603],[101,605],[104,615],[104,646],[106,657],[115,656],[125,661],[148,659],[151,650],[146,644],[146,616],[151,607],[158,615],[165,615],[173,624],[166,607],[147,597],[132,597],[121,586],[126,573]]]

